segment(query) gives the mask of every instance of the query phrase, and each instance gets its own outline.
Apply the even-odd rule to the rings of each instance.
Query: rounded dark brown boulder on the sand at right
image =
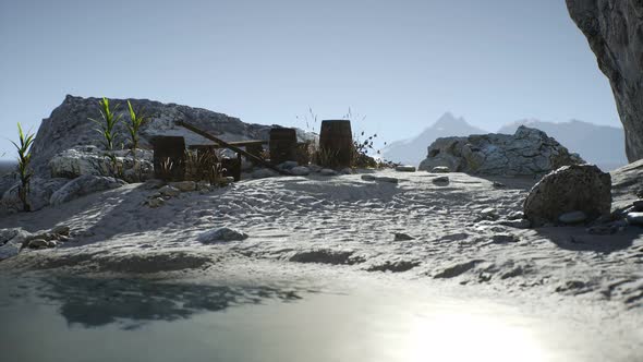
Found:
[[[582,212],[586,220],[608,217],[611,177],[592,165],[561,167],[545,176],[524,201],[524,217],[532,227],[556,224],[561,215]]]

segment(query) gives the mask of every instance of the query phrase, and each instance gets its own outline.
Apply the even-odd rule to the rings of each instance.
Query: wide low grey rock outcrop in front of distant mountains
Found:
[[[489,133],[438,138],[428,147],[420,170],[444,166],[472,174],[536,176],[583,162],[545,132],[520,126],[513,135]]]

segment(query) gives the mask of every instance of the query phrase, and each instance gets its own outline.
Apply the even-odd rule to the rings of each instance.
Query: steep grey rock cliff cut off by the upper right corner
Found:
[[[643,1],[567,0],[567,7],[609,79],[626,130],[628,159],[642,159]]]

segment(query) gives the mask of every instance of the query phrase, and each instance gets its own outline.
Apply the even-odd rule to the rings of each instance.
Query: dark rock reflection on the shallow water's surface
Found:
[[[47,278],[39,295],[60,305],[68,324],[86,328],[119,323],[134,329],[145,322],[189,318],[264,300],[296,301],[295,290],[271,287],[168,283],[141,279]]]

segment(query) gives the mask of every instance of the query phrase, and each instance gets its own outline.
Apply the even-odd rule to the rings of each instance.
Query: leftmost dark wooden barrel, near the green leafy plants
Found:
[[[154,146],[154,174],[165,181],[185,179],[185,140],[181,136],[156,136]]]

